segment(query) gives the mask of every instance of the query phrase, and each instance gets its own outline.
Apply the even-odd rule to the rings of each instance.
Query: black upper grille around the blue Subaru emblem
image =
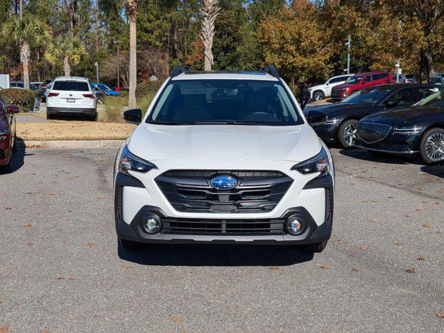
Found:
[[[237,186],[214,189],[215,176],[232,176]],[[179,212],[268,212],[289,189],[293,179],[278,171],[172,170],[155,178],[164,196]]]

